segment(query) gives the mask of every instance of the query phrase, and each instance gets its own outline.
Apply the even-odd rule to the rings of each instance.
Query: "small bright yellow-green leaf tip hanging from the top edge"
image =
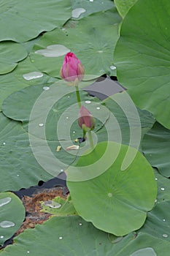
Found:
[[[137,0],[115,0],[115,6],[118,12],[124,18],[128,10],[136,3]]]

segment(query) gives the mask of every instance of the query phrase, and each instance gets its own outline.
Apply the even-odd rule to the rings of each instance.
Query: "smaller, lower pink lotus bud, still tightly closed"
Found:
[[[80,108],[78,124],[85,132],[89,132],[95,127],[95,119],[90,111],[88,111],[88,109],[83,105]]]

